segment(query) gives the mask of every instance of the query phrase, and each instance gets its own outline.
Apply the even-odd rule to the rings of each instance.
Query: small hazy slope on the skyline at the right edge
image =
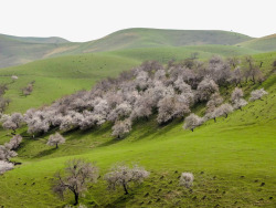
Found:
[[[276,34],[250,40],[238,45],[258,51],[276,51]]]

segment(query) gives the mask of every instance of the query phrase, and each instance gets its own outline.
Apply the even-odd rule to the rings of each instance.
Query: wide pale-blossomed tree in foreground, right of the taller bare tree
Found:
[[[129,185],[141,184],[149,174],[149,171],[138,165],[134,165],[132,168],[126,165],[116,165],[112,168],[112,171],[105,175],[105,180],[108,183],[109,189],[115,190],[117,186],[121,186],[125,194],[128,195]]]

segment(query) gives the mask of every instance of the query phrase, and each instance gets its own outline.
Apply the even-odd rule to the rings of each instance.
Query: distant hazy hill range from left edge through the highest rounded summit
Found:
[[[234,45],[252,39],[244,34],[225,31],[160,29],[126,29],[84,43],[73,43],[62,38],[20,38],[0,34],[0,67],[67,54],[136,48]]]

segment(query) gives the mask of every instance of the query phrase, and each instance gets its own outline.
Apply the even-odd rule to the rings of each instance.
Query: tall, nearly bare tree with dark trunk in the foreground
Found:
[[[74,194],[75,204],[78,204],[79,195],[87,189],[87,185],[96,183],[98,168],[84,159],[72,159],[66,163],[64,173],[56,173],[53,180],[53,191],[62,199],[66,191]]]

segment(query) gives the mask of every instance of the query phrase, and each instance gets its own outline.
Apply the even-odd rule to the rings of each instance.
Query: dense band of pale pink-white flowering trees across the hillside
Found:
[[[255,83],[261,77],[262,73],[251,58],[246,58],[242,66],[236,59],[222,60],[219,56],[208,62],[170,62],[167,67],[148,61],[123,72],[117,79],[100,81],[91,91],[65,96],[43,108],[31,108],[24,115],[6,116],[2,126],[15,133],[22,123],[26,123],[28,133],[38,135],[52,128],[63,132],[88,129],[109,122],[114,125],[113,136],[123,138],[137,119],[148,119],[157,114],[160,125],[185,117],[184,127],[193,129],[205,119],[227,117],[230,112],[242,110],[247,104],[241,89],[233,92],[231,104],[223,103],[220,86],[241,85],[243,80]],[[253,93],[251,101],[264,94],[263,91]],[[199,103],[206,103],[204,118],[193,114],[188,116]]]

